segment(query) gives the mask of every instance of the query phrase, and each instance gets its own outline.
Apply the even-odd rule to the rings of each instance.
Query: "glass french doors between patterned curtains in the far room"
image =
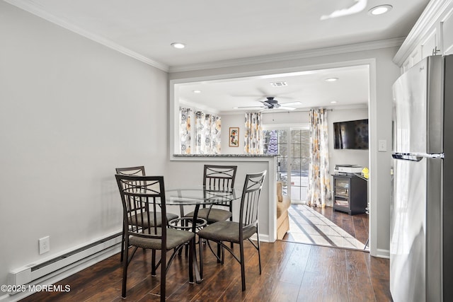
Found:
[[[285,127],[264,132],[265,153],[277,153],[277,180],[292,203],[306,202],[309,174],[309,128]]]

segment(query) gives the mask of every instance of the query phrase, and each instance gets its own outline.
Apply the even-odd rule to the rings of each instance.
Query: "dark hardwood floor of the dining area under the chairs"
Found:
[[[241,291],[241,269],[231,255],[226,252],[224,265],[207,248],[203,255],[201,284],[189,284],[188,257],[176,257],[166,278],[167,301],[391,301],[389,260],[368,252],[281,240],[261,243],[260,275],[258,255],[248,243],[246,291]],[[150,252],[138,250],[128,272],[126,301],[159,301],[160,269],[158,277],[151,277],[150,264]],[[122,301],[120,255],[58,284],[71,291],[40,292],[23,301]]]

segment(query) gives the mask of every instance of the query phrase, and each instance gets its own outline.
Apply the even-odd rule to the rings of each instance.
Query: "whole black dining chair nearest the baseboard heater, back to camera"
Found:
[[[166,272],[171,262],[186,243],[189,244],[189,282],[193,283],[193,257],[195,256],[195,234],[169,228],[166,223],[164,177],[115,175],[120,190],[124,224],[125,250],[122,271],[122,298],[126,297],[127,267],[137,248],[161,250],[161,259],[151,258],[151,276],[161,267],[161,301],[165,301]],[[159,209],[159,211],[158,211]],[[134,247],[129,255],[130,246]],[[167,261],[167,252],[173,250]]]

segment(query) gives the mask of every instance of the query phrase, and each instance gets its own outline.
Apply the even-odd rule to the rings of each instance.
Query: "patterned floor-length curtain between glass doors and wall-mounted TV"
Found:
[[[331,178],[328,174],[328,131],[326,110],[310,110],[310,165],[306,203],[332,206]]]

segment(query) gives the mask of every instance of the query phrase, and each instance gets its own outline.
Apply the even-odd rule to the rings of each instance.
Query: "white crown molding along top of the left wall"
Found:
[[[35,4],[33,1],[23,1],[23,0],[4,0],[4,1],[7,2],[8,4],[21,8],[24,11],[28,11],[28,13],[32,13],[35,16],[43,18],[51,23],[55,23],[55,24],[61,26],[62,28],[71,30],[71,32],[84,36],[84,37],[88,38],[89,40],[98,42],[99,44],[104,45],[105,47],[108,47],[112,50],[116,50],[117,52],[121,52],[122,54],[125,54],[128,57],[132,57],[134,59],[142,61],[146,64],[149,64],[151,66],[156,67],[157,69],[161,69],[166,72],[168,72],[168,70],[169,70],[169,67],[166,64],[156,62],[152,59],[149,59],[148,57],[145,57],[142,54],[133,52],[132,50],[130,50],[126,47],[118,45],[117,43],[113,42],[112,40],[105,39],[104,37],[90,33],[82,28],[79,28],[78,26],[76,26],[74,24],[64,21],[62,18],[57,18],[56,16],[52,15],[51,13],[44,11],[42,8],[39,8],[38,5]]]

